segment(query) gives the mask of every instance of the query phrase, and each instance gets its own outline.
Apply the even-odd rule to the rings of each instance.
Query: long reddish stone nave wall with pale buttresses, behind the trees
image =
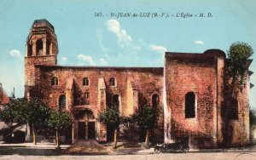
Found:
[[[69,67],[69,66],[36,66],[36,87],[34,95],[40,97],[52,109],[59,108],[61,94],[67,96],[67,82],[73,78],[73,109],[89,109],[97,117],[99,111],[113,106],[113,95],[119,95],[119,112],[130,116],[138,106],[152,106],[152,96],[160,97],[159,110],[162,111],[163,68],[125,68],[125,67]],[[58,85],[51,85],[51,78],[58,78]],[[83,85],[83,78],[88,77],[89,85]],[[115,86],[109,85],[110,78],[115,78]],[[102,87],[102,81],[105,86]],[[100,85],[100,86],[99,86]],[[70,88],[70,87],[69,87]],[[102,93],[101,89],[104,90]],[[90,93],[86,101],[84,93]],[[68,92],[69,93],[69,92]],[[69,93],[70,94],[70,93]],[[137,95],[137,97],[136,97]],[[101,98],[105,96],[105,98]],[[106,106],[102,107],[102,100]],[[137,105],[134,105],[137,103]],[[103,105],[104,106],[104,105]],[[67,107],[68,108],[68,107]],[[163,115],[161,116],[163,117]],[[159,130],[155,137],[163,141],[163,118],[160,118]],[[106,131],[104,126],[96,126],[100,135]],[[122,134],[122,133],[120,133]],[[124,135],[127,136],[127,135]],[[99,140],[103,140],[102,136]]]

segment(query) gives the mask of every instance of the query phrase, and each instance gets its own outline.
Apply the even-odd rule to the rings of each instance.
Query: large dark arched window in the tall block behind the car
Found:
[[[195,117],[195,94],[189,92],[185,95],[185,117]]]

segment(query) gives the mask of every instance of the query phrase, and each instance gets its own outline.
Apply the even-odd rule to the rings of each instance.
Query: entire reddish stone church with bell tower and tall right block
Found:
[[[232,96],[221,50],[166,53],[165,67],[58,66],[57,54],[54,26],[35,20],[26,39],[25,97],[73,115],[67,140],[111,140],[113,129],[97,121],[99,111],[115,108],[129,116],[148,104],[159,111],[155,142],[186,138],[202,148],[248,144],[248,84],[236,103],[226,99]],[[230,112],[237,115],[230,118]],[[143,139],[143,129],[128,128],[119,129],[121,139]]]

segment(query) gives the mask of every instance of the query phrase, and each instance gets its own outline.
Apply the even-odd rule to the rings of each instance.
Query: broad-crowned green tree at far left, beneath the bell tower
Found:
[[[9,106],[0,114],[5,123],[30,123],[32,124],[33,144],[36,145],[36,128],[44,127],[49,117],[49,108],[40,100],[25,98],[12,100]]]

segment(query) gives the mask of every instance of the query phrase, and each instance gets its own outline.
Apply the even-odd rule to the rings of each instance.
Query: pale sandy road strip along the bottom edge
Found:
[[[218,160],[255,160],[255,152],[189,152],[183,153],[166,153],[166,154],[143,154],[143,155],[94,155],[94,156],[22,156],[22,155],[7,155],[0,156],[1,160],[34,160],[34,159],[54,159],[54,160],[79,160],[79,159],[103,159],[103,160],[156,160],[156,159],[168,159],[168,160],[208,160],[208,159],[218,159]]]

